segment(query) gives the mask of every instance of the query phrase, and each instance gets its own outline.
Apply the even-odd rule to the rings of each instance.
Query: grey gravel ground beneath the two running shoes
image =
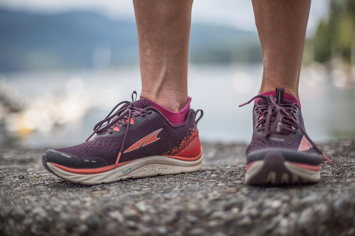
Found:
[[[0,151],[0,235],[355,235],[355,142],[320,147],[321,181],[244,183],[245,145],[204,143],[199,172],[82,186],[44,150]]]

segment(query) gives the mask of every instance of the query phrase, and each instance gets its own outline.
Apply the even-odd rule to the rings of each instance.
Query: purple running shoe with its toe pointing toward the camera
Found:
[[[332,163],[308,137],[300,106],[284,88],[257,95],[253,135],[247,147],[247,184],[315,183],[320,180],[320,155]]]

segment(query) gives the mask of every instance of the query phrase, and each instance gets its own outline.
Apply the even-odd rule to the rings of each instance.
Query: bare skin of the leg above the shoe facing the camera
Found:
[[[298,97],[311,0],[252,0],[263,56],[259,94],[284,87]]]

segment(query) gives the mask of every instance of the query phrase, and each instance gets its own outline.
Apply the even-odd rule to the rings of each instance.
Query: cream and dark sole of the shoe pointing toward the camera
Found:
[[[316,183],[320,180],[319,166],[311,167],[305,168],[302,163],[285,161],[282,154],[270,152],[263,160],[250,164],[245,181],[251,185]]]

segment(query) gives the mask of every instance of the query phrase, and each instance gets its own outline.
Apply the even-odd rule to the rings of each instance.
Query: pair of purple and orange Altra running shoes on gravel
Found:
[[[43,166],[60,178],[87,185],[199,171],[202,148],[196,124],[202,110],[190,109],[184,122],[173,125],[148,99],[134,101],[134,96],[136,92],[132,102],[117,104],[97,123],[86,142],[45,151]],[[255,99],[246,183],[318,182],[320,155],[331,161],[307,136],[299,105],[285,97],[283,88],[242,105]]]

